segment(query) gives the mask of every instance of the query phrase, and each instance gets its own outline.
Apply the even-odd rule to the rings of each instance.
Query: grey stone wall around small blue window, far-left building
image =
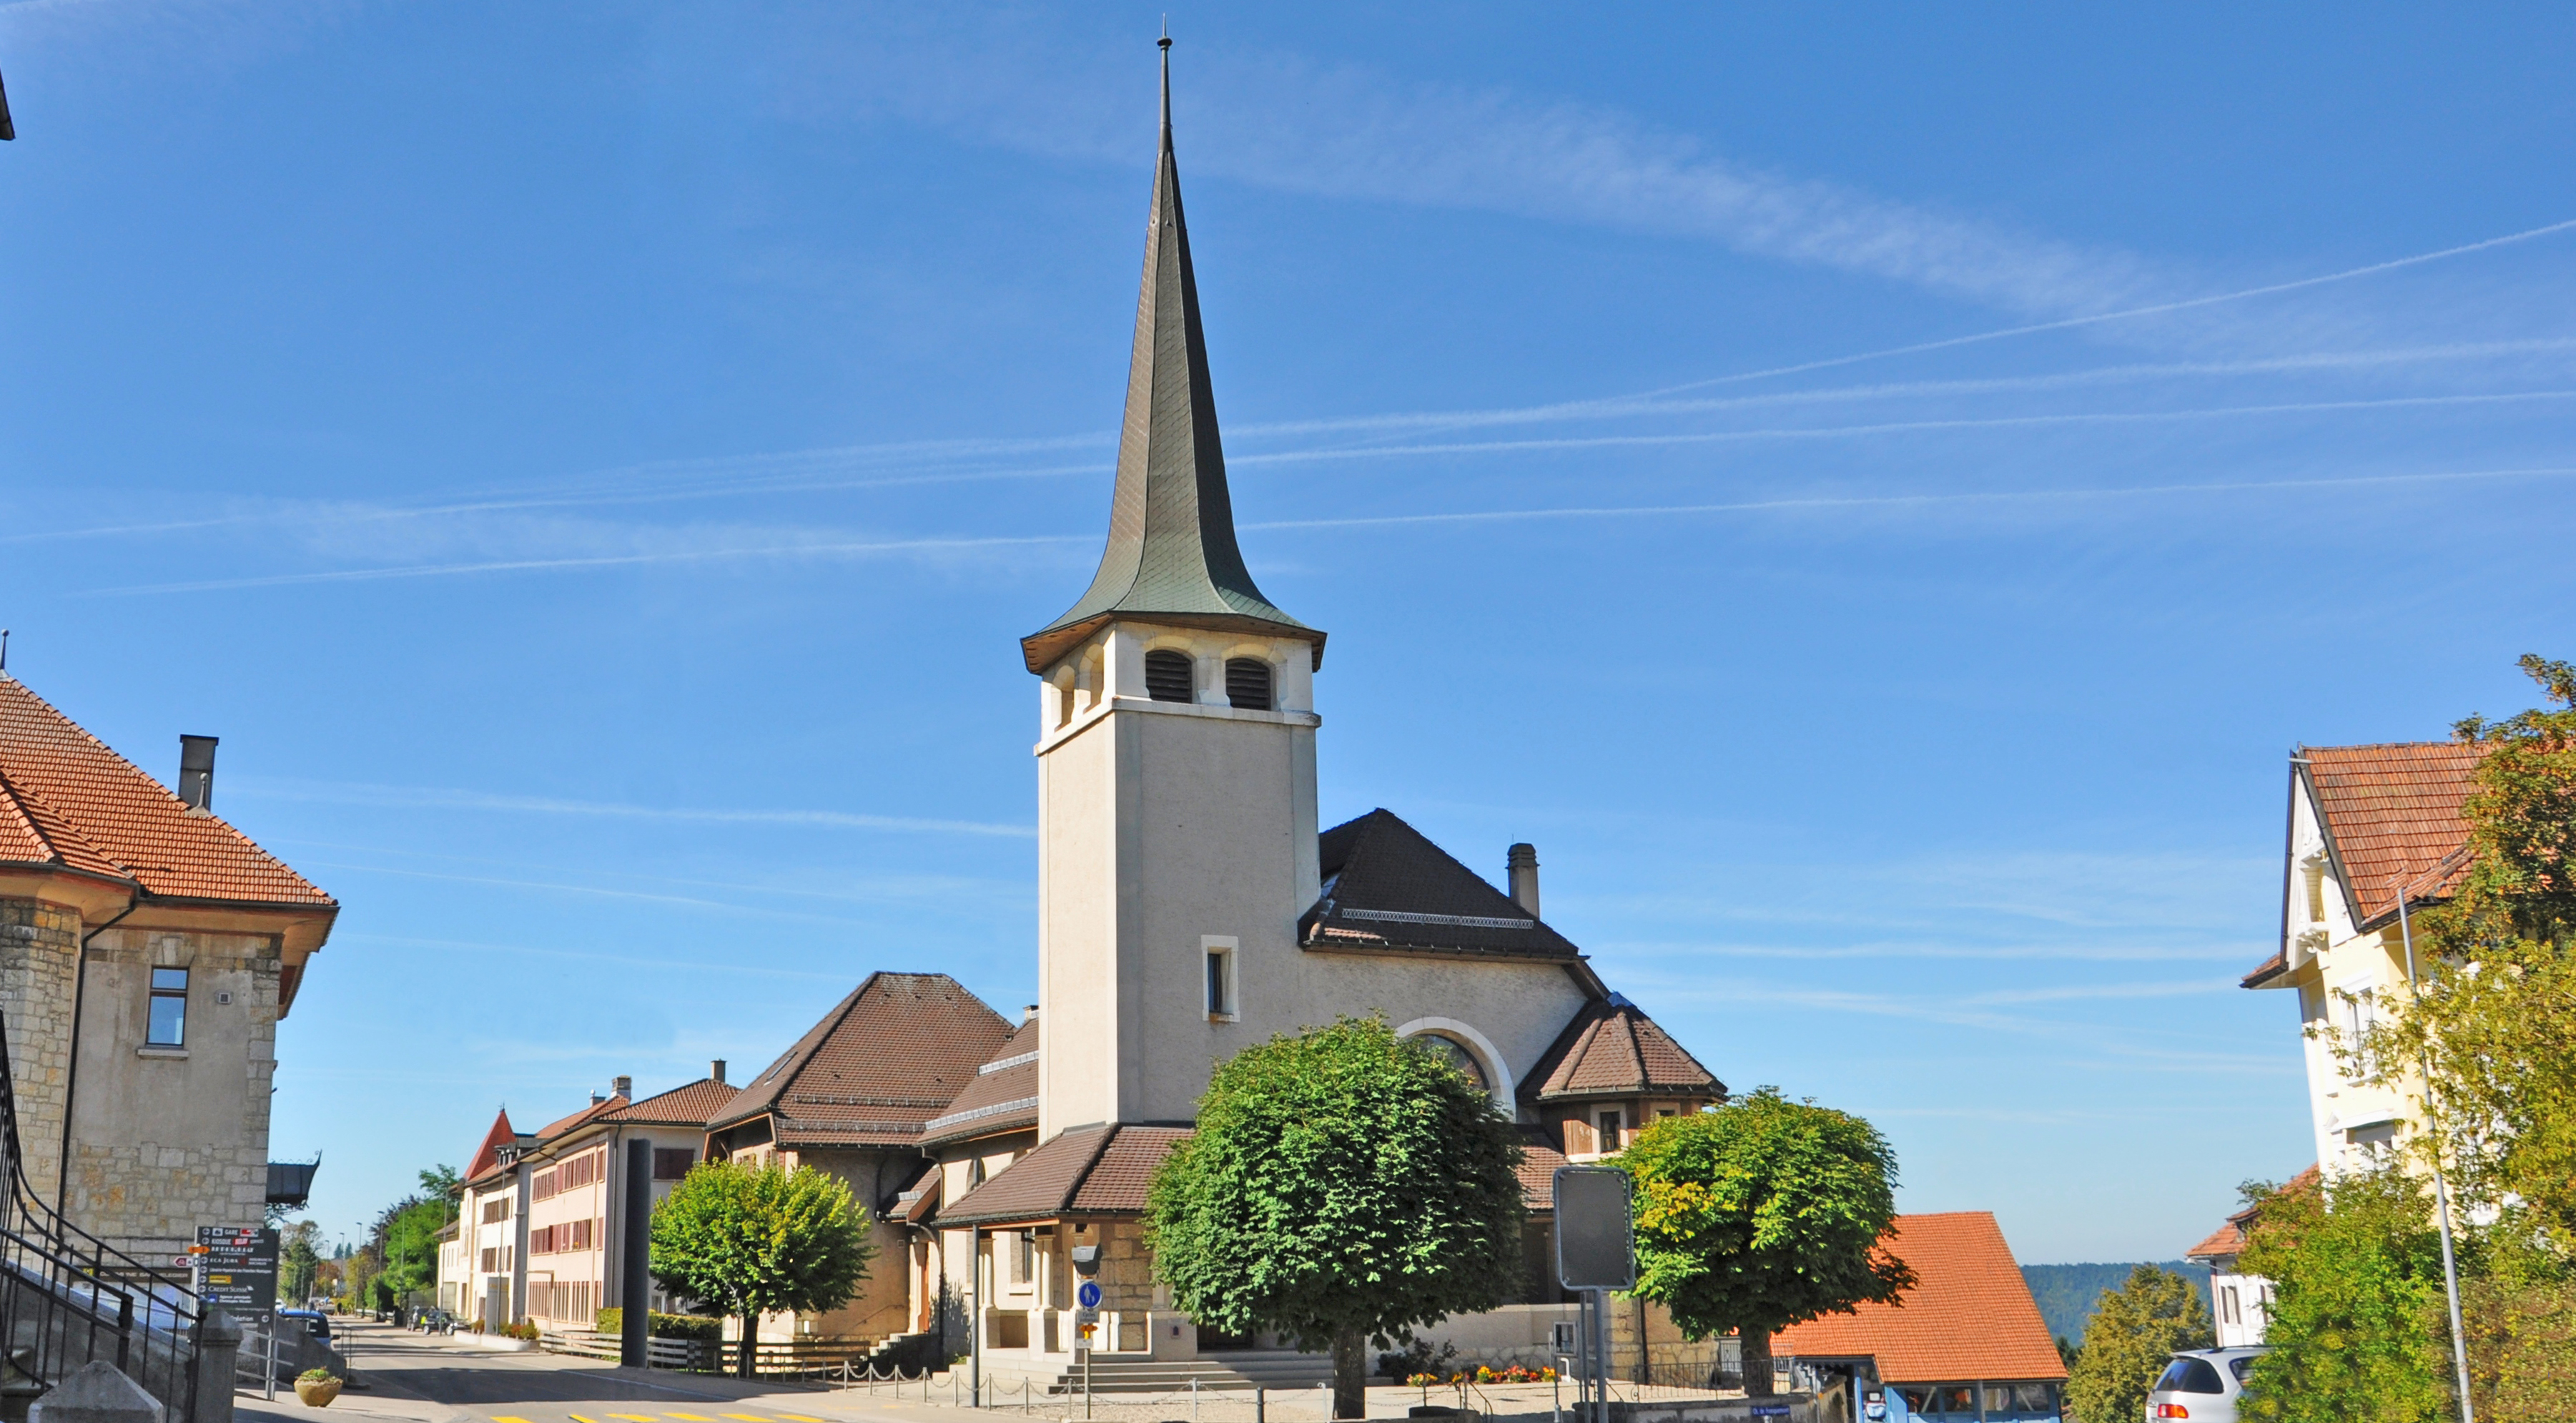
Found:
[[[188,969],[188,1031],[147,1047],[155,967]],[[278,941],[111,928],[90,941],[67,1212],[137,1258],[201,1225],[258,1225],[268,1204]]]

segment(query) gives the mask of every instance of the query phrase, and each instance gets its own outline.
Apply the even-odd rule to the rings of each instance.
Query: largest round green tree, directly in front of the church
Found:
[[[1360,1418],[1370,1338],[1520,1292],[1517,1168],[1484,1088],[1383,1018],[1342,1018],[1216,1070],[1154,1173],[1146,1245],[1193,1320],[1329,1346],[1334,1418]]]

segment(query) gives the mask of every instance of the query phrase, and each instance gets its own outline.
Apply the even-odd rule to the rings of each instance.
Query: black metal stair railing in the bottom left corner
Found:
[[[162,1405],[165,1423],[193,1423],[206,1302],[188,1279],[62,1219],[28,1186],[5,1023],[0,1155],[0,1405],[15,1413],[82,1364],[108,1361]]]

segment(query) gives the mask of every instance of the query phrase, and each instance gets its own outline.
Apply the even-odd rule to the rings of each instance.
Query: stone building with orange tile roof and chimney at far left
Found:
[[[270,1170],[276,1031],[340,905],[0,673],[0,1026],[28,1186],[142,1258],[301,1204]],[[281,1163],[286,1165],[286,1163]],[[270,1194],[270,1178],[281,1194]]]

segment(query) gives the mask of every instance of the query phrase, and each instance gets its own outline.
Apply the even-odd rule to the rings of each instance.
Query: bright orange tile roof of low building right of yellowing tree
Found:
[[[1772,1338],[1772,1356],[1870,1356],[1891,1384],[2066,1377],[1991,1212],[1896,1217],[1888,1248],[1919,1281],[1901,1304],[1790,1325]]]

